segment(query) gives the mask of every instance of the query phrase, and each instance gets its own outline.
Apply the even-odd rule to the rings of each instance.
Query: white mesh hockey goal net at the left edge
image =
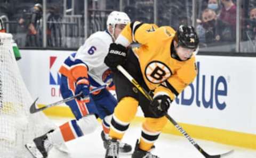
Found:
[[[0,157],[31,157],[25,144],[55,126],[43,113],[29,113],[33,103],[12,48],[12,34],[0,33]]]

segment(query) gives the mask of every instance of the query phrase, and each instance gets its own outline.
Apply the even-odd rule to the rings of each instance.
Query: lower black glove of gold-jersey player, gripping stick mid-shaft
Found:
[[[167,95],[158,95],[151,102],[150,109],[157,118],[163,117],[170,107],[172,100]]]

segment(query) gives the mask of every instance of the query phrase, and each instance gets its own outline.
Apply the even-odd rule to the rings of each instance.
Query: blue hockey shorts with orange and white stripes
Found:
[[[68,77],[61,75],[60,92],[62,98],[68,98],[75,94],[75,82]],[[97,95],[90,94],[90,102],[84,103],[77,99],[66,102],[75,118],[78,120],[86,115],[95,114],[101,119],[114,112],[117,101],[114,96],[106,89],[103,89]]]

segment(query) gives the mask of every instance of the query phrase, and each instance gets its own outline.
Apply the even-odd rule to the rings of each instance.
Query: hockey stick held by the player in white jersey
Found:
[[[97,88],[91,90],[91,91],[90,91],[90,94],[93,93],[93,92],[96,92],[96,91],[105,89],[106,86],[107,86],[107,85],[99,86],[99,87],[97,87]],[[77,98],[77,96],[81,96],[81,95],[82,95],[82,92],[79,93],[79,94],[76,94],[76,95],[74,95],[74,96],[70,96],[69,98],[66,98],[66,99],[63,99],[63,100],[60,100],[60,101],[57,101],[57,102],[48,104],[48,105],[46,105],[46,106],[44,106],[44,107],[42,107],[42,108],[36,108],[36,101],[38,100],[38,98],[37,98],[37,99],[34,101],[34,103],[31,104],[31,106],[30,106],[30,113],[36,113],[36,112],[38,112],[38,111],[43,111],[43,110],[48,109],[48,108],[50,108],[50,107],[57,106],[57,105],[59,105],[59,104],[61,104],[61,103],[65,103],[65,102],[67,102],[67,101],[73,100],[73,99]],[[88,95],[85,96],[84,98],[86,98],[86,97],[88,97]]]

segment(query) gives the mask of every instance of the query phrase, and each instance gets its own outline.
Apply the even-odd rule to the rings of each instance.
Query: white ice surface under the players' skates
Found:
[[[61,125],[68,119],[53,119],[57,125]],[[101,125],[92,134],[85,135],[81,138],[75,139],[74,141],[67,142],[67,147],[70,152],[71,157],[75,158],[85,158],[85,157],[95,157],[103,158],[105,157],[105,149],[103,148],[103,143],[101,141]],[[135,145],[136,139],[140,137],[140,126],[131,124],[130,128],[126,131],[123,138],[123,142],[131,144],[133,147]],[[211,155],[220,154],[228,152],[234,149],[235,152],[228,156],[228,158],[255,158],[256,150],[249,150],[247,148],[240,148],[235,146],[228,146],[223,144],[218,144],[210,141],[203,141],[201,139],[195,139],[195,141]],[[154,154],[161,158],[203,158],[204,156],[197,151],[197,149],[191,145],[188,140],[183,136],[174,136],[170,134],[161,134],[158,141],[155,143]],[[54,154],[54,153],[53,153]],[[50,153],[49,157],[57,157],[55,153],[54,156]],[[62,154],[59,157],[65,157]],[[131,157],[131,155],[120,155],[120,157]]]

